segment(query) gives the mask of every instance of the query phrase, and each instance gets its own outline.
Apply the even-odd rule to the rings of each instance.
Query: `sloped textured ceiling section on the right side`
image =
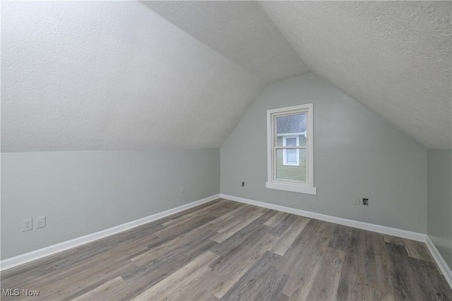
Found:
[[[451,1],[263,1],[314,73],[429,148],[452,147]]]

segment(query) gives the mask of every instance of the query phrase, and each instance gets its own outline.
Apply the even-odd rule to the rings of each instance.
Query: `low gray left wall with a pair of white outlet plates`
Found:
[[[218,193],[218,148],[2,153],[1,259]],[[21,231],[39,216],[46,228]]]

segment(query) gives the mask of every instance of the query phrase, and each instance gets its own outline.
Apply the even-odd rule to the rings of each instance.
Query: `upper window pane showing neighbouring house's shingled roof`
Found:
[[[276,117],[276,146],[283,146],[284,136],[287,146],[297,146],[294,136],[299,137],[299,146],[306,146],[307,113]]]

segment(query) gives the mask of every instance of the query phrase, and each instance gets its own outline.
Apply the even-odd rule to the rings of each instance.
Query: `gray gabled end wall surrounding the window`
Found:
[[[266,110],[310,102],[317,195],[266,189]],[[427,149],[313,73],[263,90],[222,145],[220,170],[222,194],[427,233]]]

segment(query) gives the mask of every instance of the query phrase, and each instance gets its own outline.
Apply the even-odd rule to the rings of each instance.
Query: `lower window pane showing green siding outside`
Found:
[[[298,151],[298,152],[297,152]],[[293,154],[298,153],[298,165],[284,164],[284,152],[286,152],[287,162],[293,160]],[[296,158],[295,158],[296,161]],[[306,149],[299,150],[276,150],[276,173],[275,180],[277,181],[292,181],[292,182],[306,182]]]

